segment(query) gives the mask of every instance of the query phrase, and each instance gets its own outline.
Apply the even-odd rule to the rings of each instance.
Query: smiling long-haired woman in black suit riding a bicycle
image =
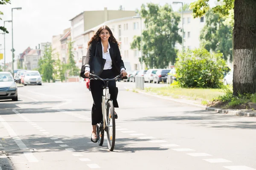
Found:
[[[96,51],[97,45],[97,51]],[[96,54],[95,54],[96,51]],[[94,56],[102,57],[106,59],[104,69],[99,77],[103,79],[112,79],[119,74],[122,77],[127,75],[125,71],[124,62],[119,51],[119,44],[112,34],[112,31],[108,26],[102,26],[93,35],[91,40],[88,42],[88,50],[85,61],[85,73],[86,77],[90,75],[90,64]],[[93,131],[91,135],[91,141],[97,142],[96,136],[96,125],[102,122],[102,85],[104,82],[101,80],[90,80],[90,89],[93,96],[93,107],[92,107],[92,125]],[[109,93],[113,101],[114,108],[118,108],[117,94],[118,89],[116,88],[116,81],[110,81],[108,83]],[[117,119],[117,114],[115,113]]]

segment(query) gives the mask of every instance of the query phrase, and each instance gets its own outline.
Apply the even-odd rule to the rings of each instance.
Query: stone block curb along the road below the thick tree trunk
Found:
[[[224,109],[209,108],[209,107],[207,107],[206,110],[215,111],[217,113],[235,115],[235,116],[256,117],[256,113],[246,112],[246,111],[224,110]]]

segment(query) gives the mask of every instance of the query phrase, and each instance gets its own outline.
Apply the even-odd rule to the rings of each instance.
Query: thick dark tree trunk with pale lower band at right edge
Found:
[[[235,0],[233,94],[256,93],[256,0]]]

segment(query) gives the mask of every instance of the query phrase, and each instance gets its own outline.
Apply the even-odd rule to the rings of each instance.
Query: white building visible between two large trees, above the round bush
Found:
[[[181,16],[181,12],[180,12]],[[183,35],[179,31],[180,36],[183,37],[184,51],[186,49],[195,49],[200,47],[200,31],[204,27],[205,17],[193,18],[192,11],[183,12]],[[182,20],[179,23],[179,28],[182,28]],[[182,44],[176,44],[175,47],[182,50]]]

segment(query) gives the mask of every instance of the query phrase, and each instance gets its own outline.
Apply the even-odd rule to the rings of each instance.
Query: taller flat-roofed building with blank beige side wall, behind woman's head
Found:
[[[82,56],[86,55],[87,43],[84,41],[84,31],[98,26],[108,20],[135,16],[135,11],[108,10],[83,11],[73,17],[71,22],[71,40],[74,42],[73,50],[77,66],[80,67]]]

